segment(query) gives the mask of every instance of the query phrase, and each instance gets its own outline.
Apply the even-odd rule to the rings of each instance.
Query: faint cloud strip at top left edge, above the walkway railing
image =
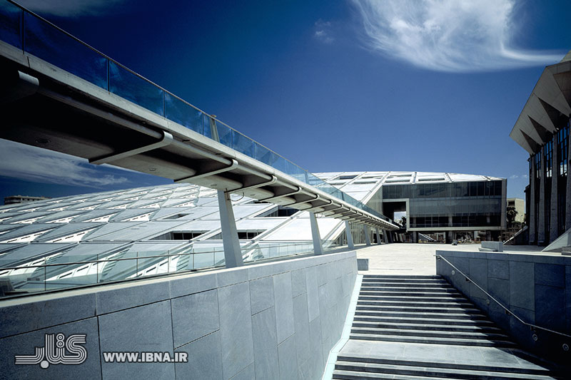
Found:
[[[16,2],[38,14],[73,17],[105,14],[124,0],[16,0]]]

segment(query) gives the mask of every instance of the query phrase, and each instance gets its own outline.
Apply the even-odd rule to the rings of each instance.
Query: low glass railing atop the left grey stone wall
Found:
[[[56,289],[118,282],[161,274],[193,272],[224,267],[221,245],[194,243],[178,252],[125,250],[86,257],[58,253],[31,260],[22,265],[0,262],[0,298],[21,296]],[[244,262],[258,262],[313,252],[311,242],[272,244],[246,243]]]

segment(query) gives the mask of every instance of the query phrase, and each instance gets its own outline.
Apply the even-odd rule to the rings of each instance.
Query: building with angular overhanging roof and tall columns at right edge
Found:
[[[510,133],[530,154],[525,209],[531,245],[548,245],[571,227],[570,116],[571,52],[545,68]]]

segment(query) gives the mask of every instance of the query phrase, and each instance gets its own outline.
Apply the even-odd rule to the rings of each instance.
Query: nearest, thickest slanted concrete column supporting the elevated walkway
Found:
[[[218,209],[220,210],[220,224],[222,227],[222,244],[224,246],[224,259],[226,267],[241,267],[244,265],[240,240],[238,240],[238,230],[236,230],[236,219],[230,194],[223,190],[218,190]]]

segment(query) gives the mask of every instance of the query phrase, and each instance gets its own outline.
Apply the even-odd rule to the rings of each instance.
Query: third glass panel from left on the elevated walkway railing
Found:
[[[163,90],[113,62],[109,62],[109,91],[163,115]]]

